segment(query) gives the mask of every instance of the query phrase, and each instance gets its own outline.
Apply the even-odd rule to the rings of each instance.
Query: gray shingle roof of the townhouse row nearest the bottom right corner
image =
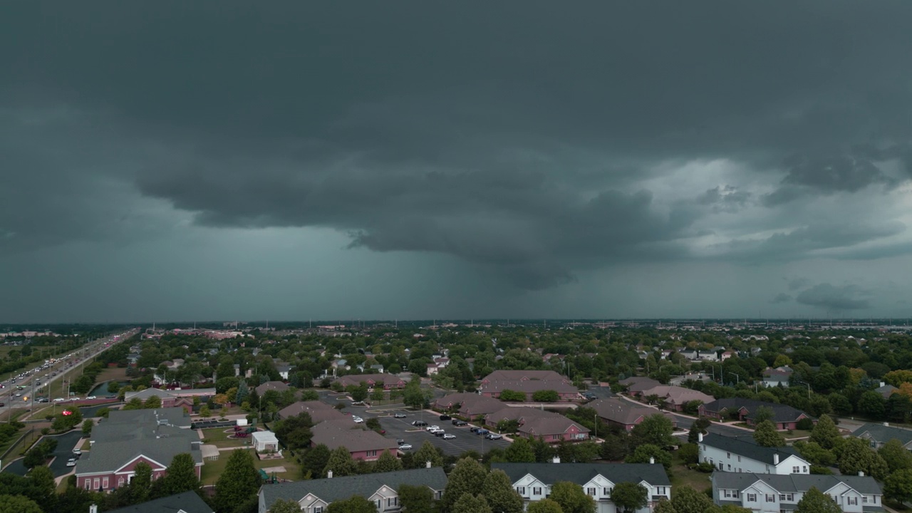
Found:
[[[750,487],[757,481],[773,487],[776,491],[782,493],[804,492],[811,487],[816,487],[822,492],[826,492],[839,483],[845,483],[852,487],[858,493],[865,495],[882,495],[880,485],[874,477],[871,476],[822,476],[814,474],[748,474],[737,472],[714,472],[712,474],[714,488],[729,488],[743,490]]]

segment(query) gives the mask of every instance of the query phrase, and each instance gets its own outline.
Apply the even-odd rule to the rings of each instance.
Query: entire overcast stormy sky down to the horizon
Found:
[[[0,321],[912,317],[909,20],[5,5]]]

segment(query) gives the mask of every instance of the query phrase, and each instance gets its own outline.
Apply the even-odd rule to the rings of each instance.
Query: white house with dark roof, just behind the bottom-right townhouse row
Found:
[[[751,434],[700,434],[700,461],[723,472],[756,474],[809,474],[811,464],[792,447],[763,447]]]

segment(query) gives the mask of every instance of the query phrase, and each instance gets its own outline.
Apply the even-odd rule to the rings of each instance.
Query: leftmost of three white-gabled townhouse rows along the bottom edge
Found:
[[[278,499],[294,500],[302,513],[325,513],[331,503],[355,496],[373,502],[380,513],[391,513],[401,510],[397,490],[402,485],[428,487],[439,500],[447,486],[447,476],[439,466],[431,466],[264,485],[260,488],[258,513],[269,511]]]

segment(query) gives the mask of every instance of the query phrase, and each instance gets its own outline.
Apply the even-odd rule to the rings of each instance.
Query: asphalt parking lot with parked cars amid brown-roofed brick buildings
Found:
[[[393,440],[402,438],[407,444],[411,444],[412,451],[417,451],[425,440],[440,447],[448,455],[461,455],[466,451],[477,451],[480,454],[484,454],[485,451],[490,451],[492,447],[496,446],[505,449],[510,445],[505,440],[486,440],[483,436],[472,434],[469,432],[468,425],[456,427],[451,421],[441,421],[437,414],[430,414],[429,412],[405,412],[405,414],[406,417],[404,419],[397,419],[392,416],[378,418],[380,419],[380,425],[387,430],[387,434],[384,434],[384,436]],[[369,416],[372,415],[368,414]],[[367,417],[365,420],[367,420]],[[417,420],[423,420],[428,425],[439,425],[447,433],[455,434],[456,438],[444,440],[441,436],[434,436],[428,433],[423,427],[411,425],[413,421]]]

